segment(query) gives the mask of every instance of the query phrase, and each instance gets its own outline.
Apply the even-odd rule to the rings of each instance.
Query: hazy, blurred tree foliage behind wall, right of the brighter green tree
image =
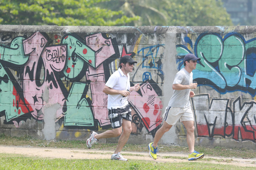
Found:
[[[221,0],[110,0],[105,6],[140,16],[128,25],[233,25]]]

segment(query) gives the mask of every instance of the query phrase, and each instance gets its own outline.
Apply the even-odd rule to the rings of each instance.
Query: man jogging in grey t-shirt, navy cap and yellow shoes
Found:
[[[180,121],[187,129],[187,143],[189,148],[188,160],[196,160],[204,157],[194,150],[195,136],[194,136],[194,116],[189,102],[189,97],[195,96],[195,93],[190,89],[195,89],[197,83],[193,82],[192,70],[196,69],[197,58],[193,54],[187,54],[184,57],[184,68],[177,72],[173,81],[173,95],[169,101],[168,106],[163,114],[163,126],[155,134],[154,142],[148,145],[150,157],[157,159],[157,143],[162,138],[163,134],[171,129],[171,127]]]

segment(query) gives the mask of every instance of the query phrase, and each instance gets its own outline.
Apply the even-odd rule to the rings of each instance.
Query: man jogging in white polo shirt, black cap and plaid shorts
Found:
[[[117,148],[111,159],[117,159],[120,161],[127,161],[121,155],[121,150],[132,131],[132,114],[129,107],[127,96],[130,91],[138,91],[140,89],[139,83],[130,87],[129,72],[132,72],[135,62],[131,56],[125,55],[120,59],[119,68],[108,79],[103,92],[108,94],[108,114],[109,120],[112,126],[112,130],[107,130],[101,134],[97,134],[92,131],[90,137],[87,139],[87,147],[90,148],[94,143],[97,143],[102,138],[118,137]],[[123,133],[122,133],[123,127]]]

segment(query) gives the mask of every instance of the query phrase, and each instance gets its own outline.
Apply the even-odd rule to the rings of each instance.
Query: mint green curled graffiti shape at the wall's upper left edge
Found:
[[[24,55],[23,42],[24,37],[16,37],[11,41],[10,47],[0,45],[0,60],[13,64],[22,65],[29,60],[29,56]]]

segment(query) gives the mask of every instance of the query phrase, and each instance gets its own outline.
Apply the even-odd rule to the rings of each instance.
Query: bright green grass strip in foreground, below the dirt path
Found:
[[[90,167],[90,168],[89,168]],[[221,165],[199,161],[169,163],[153,161],[113,161],[111,159],[51,159],[38,157],[24,157],[22,155],[1,154],[0,169],[45,169],[45,170],[165,170],[165,169],[221,169],[221,170],[253,170],[255,167],[239,167],[232,165]]]

